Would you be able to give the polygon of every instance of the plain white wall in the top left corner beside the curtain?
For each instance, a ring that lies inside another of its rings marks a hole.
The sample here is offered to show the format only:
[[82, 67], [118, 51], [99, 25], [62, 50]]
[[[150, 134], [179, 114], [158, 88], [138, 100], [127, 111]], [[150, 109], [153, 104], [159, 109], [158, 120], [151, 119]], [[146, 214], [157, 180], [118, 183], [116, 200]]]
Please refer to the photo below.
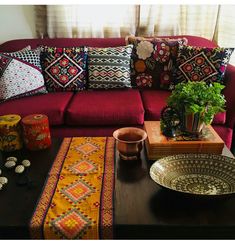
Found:
[[12, 39], [35, 37], [33, 5], [0, 5], [0, 44]]

